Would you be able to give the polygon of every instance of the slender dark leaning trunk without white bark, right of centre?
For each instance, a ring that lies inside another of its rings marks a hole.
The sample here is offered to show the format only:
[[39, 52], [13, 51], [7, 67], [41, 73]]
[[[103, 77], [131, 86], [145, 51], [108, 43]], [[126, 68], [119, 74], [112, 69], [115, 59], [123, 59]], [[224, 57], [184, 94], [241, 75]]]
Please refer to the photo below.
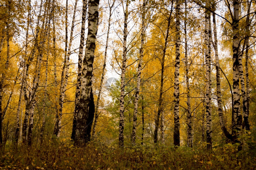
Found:
[[171, 12], [170, 12], [170, 15], [168, 17], [168, 25], [167, 25], [167, 30], [166, 30], [166, 36], [163, 35], [163, 36], [165, 36], [165, 45], [164, 45], [164, 48], [163, 48], [163, 57], [162, 57], [162, 60], [161, 60], [161, 84], [160, 84], [160, 91], [159, 91], [157, 119], [155, 120], [154, 143], [157, 143], [157, 132], [158, 132], [158, 126], [159, 126], [159, 119], [160, 119], [160, 113], [162, 111], [164, 62], [165, 62], [165, 53], [166, 53], [166, 48], [167, 48], [168, 36], [169, 36], [169, 31], [170, 31], [172, 7], [173, 7], [173, 3], [171, 4]]

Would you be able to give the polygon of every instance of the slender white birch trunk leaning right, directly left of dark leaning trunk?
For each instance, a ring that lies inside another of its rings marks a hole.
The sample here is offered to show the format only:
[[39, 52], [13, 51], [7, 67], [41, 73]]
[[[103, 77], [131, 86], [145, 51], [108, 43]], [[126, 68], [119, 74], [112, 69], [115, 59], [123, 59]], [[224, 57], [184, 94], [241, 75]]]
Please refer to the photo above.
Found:
[[146, 0], [143, 0], [143, 7], [142, 7], [142, 27], [141, 27], [141, 49], [140, 49], [140, 60], [138, 64], [138, 72], [137, 72], [137, 86], [135, 92], [135, 99], [134, 99], [134, 111], [133, 111], [133, 125], [132, 125], [132, 144], [135, 144], [136, 138], [136, 125], [137, 125], [137, 112], [138, 112], [138, 101], [139, 101], [139, 92], [141, 86], [141, 65], [142, 65], [142, 58], [143, 58], [143, 51], [144, 51], [144, 39], [145, 39], [145, 12], [146, 12]]

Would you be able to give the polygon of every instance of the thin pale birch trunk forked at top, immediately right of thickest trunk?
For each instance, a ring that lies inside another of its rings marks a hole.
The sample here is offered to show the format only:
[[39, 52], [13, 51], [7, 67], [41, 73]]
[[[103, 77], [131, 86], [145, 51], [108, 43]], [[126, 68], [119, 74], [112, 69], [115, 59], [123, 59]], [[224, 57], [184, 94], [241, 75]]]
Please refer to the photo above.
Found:
[[106, 61], [107, 61], [107, 47], [108, 47], [108, 36], [109, 36], [109, 30], [110, 30], [110, 22], [111, 22], [111, 15], [112, 15], [112, 8], [115, 4], [115, 0], [113, 1], [113, 4], [110, 6], [109, 4], [109, 18], [108, 18], [108, 28], [107, 28], [107, 39], [106, 39], [106, 46], [105, 46], [105, 53], [104, 53], [104, 63], [103, 63], [103, 68], [102, 68], [102, 76], [101, 76], [101, 81], [100, 81], [100, 86], [99, 86], [99, 94], [97, 98], [97, 103], [96, 103], [96, 108], [95, 108], [95, 118], [94, 118], [94, 124], [93, 124], [93, 132], [92, 132], [92, 140], [95, 138], [95, 131], [96, 131], [96, 126], [97, 126], [97, 121], [98, 121], [98, 110], [99, 110], [99, 101], [102, 93], [102, 87], [103, 87], [103, 81], [104, 81], [104, 76], [105, 76], [105, 68], [106, 68]]

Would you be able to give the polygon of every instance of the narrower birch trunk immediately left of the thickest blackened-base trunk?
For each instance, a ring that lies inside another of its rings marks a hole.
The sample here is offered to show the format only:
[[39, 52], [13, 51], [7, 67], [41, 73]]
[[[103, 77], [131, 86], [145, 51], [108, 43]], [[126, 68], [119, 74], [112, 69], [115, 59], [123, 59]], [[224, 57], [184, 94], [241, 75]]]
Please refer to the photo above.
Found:
[[76, 129], [77, 129], [77, 115], [79, 109], [79, 99], [80, 99], [80, 89], [81, 89], [81, 77], [82, 77], [82, 58], [83, 58], [83, 49], [85, 41], [85, 21], [86, 21], [86, 9], [87, 9], [87, 0], [83, 0], [83, 9], [82, 9], [82, 26], [81, 26], [81, 37], [80, 37], [80, 46], [79, 46], [79, 55], [78, 55], [78, 70], [77, 70], [77, 85], [76, 85], [76, 94], [75, 94], [75, 108], [74, 108], [74, 118], [72, 125], [71, 139], [75, 140]]

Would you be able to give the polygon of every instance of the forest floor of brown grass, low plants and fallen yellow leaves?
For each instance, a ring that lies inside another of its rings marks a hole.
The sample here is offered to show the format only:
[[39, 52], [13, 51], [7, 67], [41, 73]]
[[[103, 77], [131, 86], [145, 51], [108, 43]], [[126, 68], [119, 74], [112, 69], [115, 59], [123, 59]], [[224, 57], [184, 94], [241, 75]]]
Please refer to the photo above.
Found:
[[191, 149], [173, 146], [118, 148], [99, 142], [74, 147], [69, 140], [48, 141], [17, 149], [6, 146], [0, 169], [256, 169], [255, 141], [251, 149], [237, 151], [238, 144], [205, 144]]

